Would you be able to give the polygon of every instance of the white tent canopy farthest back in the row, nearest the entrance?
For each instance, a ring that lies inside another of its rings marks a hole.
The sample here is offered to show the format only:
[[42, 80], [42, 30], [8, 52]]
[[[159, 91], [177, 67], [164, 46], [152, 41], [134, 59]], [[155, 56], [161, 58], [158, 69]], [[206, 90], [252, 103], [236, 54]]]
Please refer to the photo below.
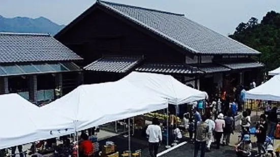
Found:
[[171, 75], [131, 72], [120, 81], [129, 81], [131, 84], [146, 91], [157, 94], [169, 100], [170, 104], [179, 105], [208, 98], [206, 92], [202, 92], [186, 86], [177, 81]]

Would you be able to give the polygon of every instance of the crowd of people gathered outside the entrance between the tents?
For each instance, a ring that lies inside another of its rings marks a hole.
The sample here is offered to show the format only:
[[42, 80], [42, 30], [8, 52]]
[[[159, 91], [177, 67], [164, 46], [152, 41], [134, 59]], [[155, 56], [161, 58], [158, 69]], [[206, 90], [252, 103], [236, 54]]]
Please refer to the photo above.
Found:
[[[251, 87], [252, 86], [252, 87]], [[250, 88], [255, 88], [254, 82]], [[201, 157], [205, 156], [206, 152], [211, 151], [212, 148], [220, 149], [221, 145], [226, 146], [230, 144], [231, 135], [235, 131], [235, 116], [238, 111], [242, 111], [245, 103], [245, 88], [240, 86], [233, 90], [236, 95], [230, 95], [227, 92], [222, 92], [220, 96], [213, 97], [211, 101], [204, 102], [204, 108], [201, 102], [193, 104], [193, 111], [183, 114], [182, 124], [174, 125], [175, 122], [170, 121], [173, 126], [172, 140], [182, 139], [183, 133], [186, 130], [189, 133], [189, 138], [195, 145], [194, 156], [198, 155], [199, 149]], [[272, 143], [267, 142], [267, 137], [273, 137], [276, 129], [277, 121], [277, 107], [267, 109], [268, 112], [261, 114], [259, 122], [252, 123], [251, 109], [246, 109], [242, 112], [242, 118], [239, 123], [241, 126], [241, 134], [239, 143], [236, 145], [237, 156], [251, 156], [252, 155], [252, 141], [251, 135], [256, 136], [258, 151], [256, 156], [276, 156], [273, 152]], [[174, 112], [175, 113], [175, 112]], [[170, 117], [174, 113], [169, 113]], [[280, 126], [280, 124], [279, 124]], [[251, 128], [256, 129], [255, 133], [251, 132]], [[161, 128], [158, 128], [158, 130]], [[151, 133], [152, 132], [152, 133]], [[152, 134], [152, 136], [150, 136]], [[154, 134], [153, 131], [147, 130], [149, 135], [149, 142], [154, 142], [153, 137], [157, 137], [157, 144], [150, 144], [150, 156], [156, 156], [159, 143], [162, 140], [160, 131]], [[213, 145], [214, 144], [214, 145]]]

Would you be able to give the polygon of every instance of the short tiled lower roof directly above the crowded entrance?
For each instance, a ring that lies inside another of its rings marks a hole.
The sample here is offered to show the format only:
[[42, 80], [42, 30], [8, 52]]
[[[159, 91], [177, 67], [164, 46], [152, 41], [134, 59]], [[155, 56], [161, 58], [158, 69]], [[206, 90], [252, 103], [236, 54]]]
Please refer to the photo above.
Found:
[[214, 73], [214, 72], [225, 72], [230, 71], [230, 68], [226, 68], [219, 64], [214, 63], [202, 63], [199, 65], [199, 70], [205, 73]]

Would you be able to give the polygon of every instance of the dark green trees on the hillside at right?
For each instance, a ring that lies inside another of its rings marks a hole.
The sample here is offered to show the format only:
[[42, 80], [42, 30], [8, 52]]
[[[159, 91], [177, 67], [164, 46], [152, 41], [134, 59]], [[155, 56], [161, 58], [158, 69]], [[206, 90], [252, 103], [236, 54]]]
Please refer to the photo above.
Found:
[[280, 66], [280, 14], [268, 12], [261, 22], [252, 17], [241, 22], [229, 37], [261, 52], [261, 62], [265, 71]]

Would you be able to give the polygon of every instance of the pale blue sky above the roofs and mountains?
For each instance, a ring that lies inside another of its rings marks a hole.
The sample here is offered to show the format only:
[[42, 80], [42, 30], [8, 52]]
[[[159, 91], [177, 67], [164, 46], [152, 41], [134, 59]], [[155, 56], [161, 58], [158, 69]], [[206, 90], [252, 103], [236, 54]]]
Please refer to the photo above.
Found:
[[[251, 17], [261, 21], [271, 10], [280, 12], [279, 0], [107, 0], [110, 2], [184, 14], [216, 32], [228, 35]], [[57, 24], [69, 24], [95, 0], [0, 0], [0, 15], [46, 17]]]

